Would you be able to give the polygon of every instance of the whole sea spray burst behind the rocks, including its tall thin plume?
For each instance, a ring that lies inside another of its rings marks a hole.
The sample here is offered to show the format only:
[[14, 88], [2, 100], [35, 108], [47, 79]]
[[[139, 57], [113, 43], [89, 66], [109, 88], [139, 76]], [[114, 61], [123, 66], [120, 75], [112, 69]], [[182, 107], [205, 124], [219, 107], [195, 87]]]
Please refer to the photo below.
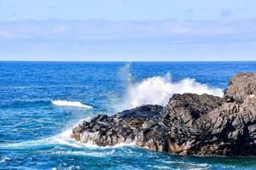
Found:
[[131, 62], [119, 69], [120, 83], [124, 94], [111, 95], [113, 111], [119, 112], [139, 105], [163, 105], [173, 94], [212, 94], [223, 97], [223, 89], [212, 88], [207, 84], [196, 82], [194, 78], [184, 78], [179, 82], [172, 82], [171, 73], [165, 76], [148, 77], [141, 82], [134, 82], [131, 74]]

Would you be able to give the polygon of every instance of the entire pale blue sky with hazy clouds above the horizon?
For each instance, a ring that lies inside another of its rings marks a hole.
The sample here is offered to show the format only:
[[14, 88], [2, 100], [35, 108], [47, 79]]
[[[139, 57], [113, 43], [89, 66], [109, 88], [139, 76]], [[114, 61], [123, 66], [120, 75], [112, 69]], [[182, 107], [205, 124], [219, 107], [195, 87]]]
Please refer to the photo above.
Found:
[[253, 0], [0, 0], [0, 60], [255, 60]]

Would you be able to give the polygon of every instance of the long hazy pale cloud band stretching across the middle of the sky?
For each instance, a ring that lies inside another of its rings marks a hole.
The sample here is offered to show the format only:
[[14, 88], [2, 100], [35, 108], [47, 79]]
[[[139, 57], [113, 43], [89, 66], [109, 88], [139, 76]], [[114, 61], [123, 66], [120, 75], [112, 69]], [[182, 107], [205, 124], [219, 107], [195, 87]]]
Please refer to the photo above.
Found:
[[[2, 40], [218, 42], [256, 39], [256, 20], [23, 20], [0, 22]], [[10, 33], [11, 32], [11, 33]]]

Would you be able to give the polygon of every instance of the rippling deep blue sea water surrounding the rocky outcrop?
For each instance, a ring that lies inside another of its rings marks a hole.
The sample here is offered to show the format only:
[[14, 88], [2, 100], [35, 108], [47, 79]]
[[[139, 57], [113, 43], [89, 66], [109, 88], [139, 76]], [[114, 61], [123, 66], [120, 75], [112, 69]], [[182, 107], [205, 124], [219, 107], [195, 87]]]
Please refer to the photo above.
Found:
[[[112, 115], [143, 98], [129, 89], [162, 92], [151, 86], [155, 81], [173, 92], [207, 87], [214, 94], [239, 71], [255, 72], [256, 62], [0, 62], [0, 169], [256, 169], [256, 157], [175, 156], [69, 138], [79, 121]], [[194, 82], [183, 81], [188, 77]]]

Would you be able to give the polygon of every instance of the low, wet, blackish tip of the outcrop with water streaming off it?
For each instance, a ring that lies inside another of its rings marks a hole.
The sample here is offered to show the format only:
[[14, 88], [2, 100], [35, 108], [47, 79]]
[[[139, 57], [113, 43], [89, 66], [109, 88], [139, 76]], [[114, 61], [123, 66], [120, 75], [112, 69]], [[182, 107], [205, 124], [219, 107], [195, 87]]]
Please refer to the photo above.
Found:
[[136, 141], [144, 129], [159, 122], [160, 105], [142, 105], [114, 116], [100, 115], [73, 128], [74, 139], [101, 146]]

